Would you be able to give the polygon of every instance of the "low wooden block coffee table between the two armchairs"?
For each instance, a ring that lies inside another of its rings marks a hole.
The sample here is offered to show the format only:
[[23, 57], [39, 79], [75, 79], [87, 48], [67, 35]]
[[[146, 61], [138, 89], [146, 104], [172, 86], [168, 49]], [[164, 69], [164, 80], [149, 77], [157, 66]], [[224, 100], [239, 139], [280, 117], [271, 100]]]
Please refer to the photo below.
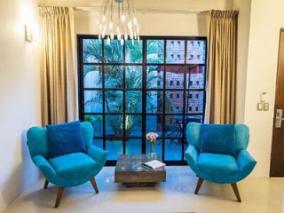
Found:
[[[156, 158], [162, 161], [161, 157]], [[155, 183], [166, 181], [166, 169], [146, 170], [141, 166], [149, 162], [147, 154], [122, 154], [119, 156], [115, 170], [114, 183], [130, 186], [154, 186]]]

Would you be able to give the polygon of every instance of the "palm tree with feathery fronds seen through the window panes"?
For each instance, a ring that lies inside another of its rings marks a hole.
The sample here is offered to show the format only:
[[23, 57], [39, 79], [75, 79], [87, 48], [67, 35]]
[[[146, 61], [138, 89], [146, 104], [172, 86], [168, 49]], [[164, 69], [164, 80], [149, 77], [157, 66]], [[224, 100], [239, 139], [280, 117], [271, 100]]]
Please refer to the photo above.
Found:
[[[147, 43], [147, 55], [150, 63], [161, 63], [163, 55], [163, 44], [159, 41], [149, 41]], [[135, 41], [125, 43], [126, 53], [125, 60], [130, 63], [142, 63], [142, 42]], [[105, 44], [105, 62], [117, 63], [122, 62], [122, 46], [119, 41], [112, 41], [110, 45]], [[154, 55], [154, 57], [153, 57]], [[102, 46], [98, 39], [87, 39], [83, 43], [83, 59], [86, 62], [102, 61]], [[105, 86], [106, 88], [123, 88], [122, 66], [105, 66]], [[142, 67], [128, 66], [125, 68], [125, 86], [128, 89], [142, 88]], [[148, 67], [146, 85], [147, 88], [154, 88], [160, 76], [156, 75], [157, 66]], [[94, 68], [85, 67], [83, 70], [84, 77], [95, 71]], [[97, 83], [102, 82], [100, 75]], [[107, 113], [122, 113], [124, 102], [122, 99], [122, 91], [106, 91], [106, 112]], [[151, 97], [148, 97], [151, 98]], [[85, 105], [95, 105], [99, 101], [101, 103], [102, 96], [95, 97], [85, 101]], [[128, 113], [139, 112], [139, 107], [142, 103], [142, 94], [138, 91], [127, 91], [125, 108]], [[91, 120], [85, 116], [85, 120]], [[94, 121], [91, 121], [94, 122]], [[115, 136], [123, 135], [123, 116], [117, 115], [109, 119]], [[128, 135], [134, 126], [133, 115], [125, 116], [125, 134]]]

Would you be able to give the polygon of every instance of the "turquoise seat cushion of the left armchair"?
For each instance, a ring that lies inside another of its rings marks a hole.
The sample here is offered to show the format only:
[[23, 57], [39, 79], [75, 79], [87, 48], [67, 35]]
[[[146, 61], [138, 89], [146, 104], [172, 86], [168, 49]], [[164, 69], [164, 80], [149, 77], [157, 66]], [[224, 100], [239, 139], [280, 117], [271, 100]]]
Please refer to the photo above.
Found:
[[95, 162], [87, 154], [73, 153], [65, 154], [49, 160], [52, 168], [59, 177], [66, 179], [80, 179], [86, 177], [97, 167]]

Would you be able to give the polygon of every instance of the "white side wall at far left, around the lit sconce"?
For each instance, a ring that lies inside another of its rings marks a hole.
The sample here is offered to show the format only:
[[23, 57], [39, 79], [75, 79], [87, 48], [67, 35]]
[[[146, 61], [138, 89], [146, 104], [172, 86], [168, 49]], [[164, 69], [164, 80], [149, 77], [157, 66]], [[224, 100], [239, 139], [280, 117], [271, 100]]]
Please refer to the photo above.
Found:
[[38, 178], [26, 144], [41, 124], [38, 43], [25, 41], [36, 20], [36, 1], [0, 1], [0, 212]]

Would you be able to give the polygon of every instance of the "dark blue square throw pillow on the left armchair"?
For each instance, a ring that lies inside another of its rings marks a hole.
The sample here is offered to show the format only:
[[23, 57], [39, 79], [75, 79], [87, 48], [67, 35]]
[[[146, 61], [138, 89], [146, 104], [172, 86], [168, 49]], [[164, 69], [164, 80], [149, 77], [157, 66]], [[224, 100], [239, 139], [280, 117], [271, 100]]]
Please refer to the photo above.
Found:
[[46, 129], [51, 158], [63, 154], [86, 152], [80, 122], [47, 125]]

